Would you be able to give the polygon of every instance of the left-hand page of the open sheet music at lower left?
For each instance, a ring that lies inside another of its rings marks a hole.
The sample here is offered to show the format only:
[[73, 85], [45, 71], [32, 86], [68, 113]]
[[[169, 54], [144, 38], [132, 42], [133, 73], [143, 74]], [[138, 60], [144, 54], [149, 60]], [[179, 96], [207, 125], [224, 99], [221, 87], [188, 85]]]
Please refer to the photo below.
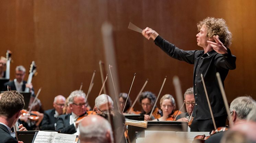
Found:
[[58, 132], [38, 131], [34, 143], [52, 143]]

